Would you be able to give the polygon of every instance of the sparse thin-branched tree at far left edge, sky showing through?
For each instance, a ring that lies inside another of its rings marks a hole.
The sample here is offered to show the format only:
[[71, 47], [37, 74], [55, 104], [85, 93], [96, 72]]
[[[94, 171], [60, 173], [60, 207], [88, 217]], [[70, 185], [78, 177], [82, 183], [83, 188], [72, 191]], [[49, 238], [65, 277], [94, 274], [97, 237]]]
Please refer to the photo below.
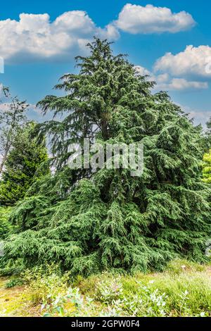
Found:
[[2, 89], [4, 110], [0, 110], [0, 175], [13, 141], [17, 137], [21, 125], [26, 123], [27, 103], [19, 101], [18, 97], [11, 96], [8, 87]]

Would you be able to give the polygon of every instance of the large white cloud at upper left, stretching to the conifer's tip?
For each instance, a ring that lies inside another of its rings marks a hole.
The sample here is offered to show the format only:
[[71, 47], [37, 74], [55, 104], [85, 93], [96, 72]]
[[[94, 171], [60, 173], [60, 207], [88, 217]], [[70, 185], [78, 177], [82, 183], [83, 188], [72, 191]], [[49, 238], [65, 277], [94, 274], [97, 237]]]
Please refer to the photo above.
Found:
[[117, 39], [113, 25], [96, 27], [84, 11], [69, 11], [52, 23], [48, 14], [20, 14], [20, 20], [0, 20], [0, 55], [7, 62], [69, 59], [84, 51], [94, 36]]

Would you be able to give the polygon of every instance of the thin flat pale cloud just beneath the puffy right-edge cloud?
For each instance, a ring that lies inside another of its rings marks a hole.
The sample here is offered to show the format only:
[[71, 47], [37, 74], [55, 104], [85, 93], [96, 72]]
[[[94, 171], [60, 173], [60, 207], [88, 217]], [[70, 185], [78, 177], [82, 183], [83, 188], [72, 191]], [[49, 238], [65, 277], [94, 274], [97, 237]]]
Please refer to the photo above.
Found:
[[136, 65], [136, 71], [141, 76], [148, 76], [148, 80], [156, 82], [155, 90], [166, 90], [166, 91], [186, 91], [194, 89], [208, 89], [209, 85], [207, 82], [198, 82], [186, 80], [185, 78], [171, 77], [168, 73], [162, 73], [156, 75], [150, 70], [143, 68], [141, 65]]

